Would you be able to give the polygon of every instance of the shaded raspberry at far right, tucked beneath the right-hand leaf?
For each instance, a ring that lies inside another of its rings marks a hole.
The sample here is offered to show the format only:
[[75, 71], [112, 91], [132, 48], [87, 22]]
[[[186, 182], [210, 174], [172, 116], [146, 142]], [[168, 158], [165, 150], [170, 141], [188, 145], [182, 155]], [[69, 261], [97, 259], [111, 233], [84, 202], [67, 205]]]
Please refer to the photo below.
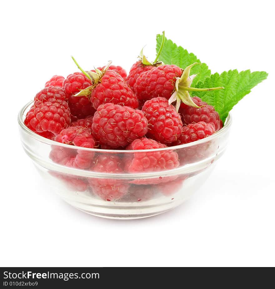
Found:
[[197, 106], [201, 107], [195, 108], [182, 103], [179, 113], [182, 115], [182, 121], [184, 124], [204, 121], [207, 124], [212, 124], [216, 131], [222, 128], [220, 116], [212, 105], [207, 104], [197, 96], [192, 97], [192, 100], [197, 104]]

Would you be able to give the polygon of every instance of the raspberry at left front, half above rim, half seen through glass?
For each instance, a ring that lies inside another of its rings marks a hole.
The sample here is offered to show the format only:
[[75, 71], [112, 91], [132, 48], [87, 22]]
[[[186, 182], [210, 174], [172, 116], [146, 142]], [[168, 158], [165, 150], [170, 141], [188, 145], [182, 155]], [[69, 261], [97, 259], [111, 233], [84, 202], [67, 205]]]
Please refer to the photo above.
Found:
[[[92, 130], [81, 126], [70, 126], [68, 129], [63, 129], [60, 134], [55, 137], [55, 141], [83, 148], [93, 148], [95, 145]], [[80, 169], [87, 169], [91, 166], [94, 157], [93, 151], [63, 150], [62, 147], [55, 147], [56, 149], [52, 150], [50, 156], [52, 160], [58, 160], [59, 162], [63, 162], [66, 166]]]

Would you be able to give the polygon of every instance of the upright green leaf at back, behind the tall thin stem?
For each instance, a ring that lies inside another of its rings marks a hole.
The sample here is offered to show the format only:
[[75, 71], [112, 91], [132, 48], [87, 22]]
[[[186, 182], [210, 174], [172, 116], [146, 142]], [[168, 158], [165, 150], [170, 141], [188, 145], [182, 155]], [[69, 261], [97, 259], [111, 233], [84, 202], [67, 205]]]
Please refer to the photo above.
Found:
[[[157, 47], [156, 51], [158, 53], [158, 50], [160, 48], [162, 42], [162, 35], [157, 35]], [[187, 66], [189, 66], [192, 63], [201, 61], [197, 58], [196, 55], [193, 53], [188, 53], [188, 51], [181, 46], [177, 46], [175, 43], [173, 43], [172, 40], [168, 40], [165, 37], [164, 46], [163, 49], [159, 55], [158, 58], [159, 61], [162, 61], [165, 64], [175, 64], [179, 66], [180, 68], [185, 69]], [[195, 87], [198, 81], [204, 81], [207, 77], [210, 76], [211, 71], [208, 69], [207, 64], [202, 63], [202, 65], [196, 65], [191, 69], [190, 74], [198, 74], [194, 80], [192, 81], [192, 87]]]

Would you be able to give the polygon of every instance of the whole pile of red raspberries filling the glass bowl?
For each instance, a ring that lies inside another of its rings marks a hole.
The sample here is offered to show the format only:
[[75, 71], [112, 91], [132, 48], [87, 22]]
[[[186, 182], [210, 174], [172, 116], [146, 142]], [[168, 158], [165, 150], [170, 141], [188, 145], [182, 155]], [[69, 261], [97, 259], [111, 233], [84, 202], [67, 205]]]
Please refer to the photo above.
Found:
[[[96, 82], [83, 72], [69, 74], [67, 78], [54, 75], [36, 94], [26, 115], [25, 125], [42, 137], [72, 146], [98, 149], [97, 153], [96, 150], [70, 150], [52, 145], [50, 158], [58, 164], [114, 174], [171, 170], [192, 162], [192, 157], [203, 153], [203, 147], [192, 152], [186, 150], [182, 155], [176, 150], [158, 150], [125, 154], [124, 158], [104, 154], [100, 149], [173, 147], [203, 139], [222, 128], [215, 109], [198, 97], [192, 100], [199, 108], [182, 103], [177, 112], [175, 106], [168, 103], [175, 91], [176, 79], [183, 73], [183, 69], [176, 65], [145, 65], [137, 61], [129, 74], [115, 65], [92, 71], [96, 73], [98, 70], [103, 73], [99, 74]], [[87, 88], [91, 88], [90, 93], [75, 96]], [[172, 184], [177, 178], [170, 176], [125, 182], [55, 175], [76, 190], [86, 190], [89, 186], [96, 195], [108, 201], [123, 200], [129, 194], [136, 201], [148, 199], [154, 191], [152, 185]]]

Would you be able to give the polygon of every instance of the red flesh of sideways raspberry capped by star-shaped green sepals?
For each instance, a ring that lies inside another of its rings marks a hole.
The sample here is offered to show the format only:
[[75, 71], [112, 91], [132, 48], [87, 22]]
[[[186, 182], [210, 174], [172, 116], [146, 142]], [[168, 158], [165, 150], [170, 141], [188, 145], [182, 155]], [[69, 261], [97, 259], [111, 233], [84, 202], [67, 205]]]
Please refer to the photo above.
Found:
[[183, 70], [176, 65], [160, 65], [139, 75], [134, 84], [138, 99], [165, 97], [169, 99], [175, 90], [176, 78]]

